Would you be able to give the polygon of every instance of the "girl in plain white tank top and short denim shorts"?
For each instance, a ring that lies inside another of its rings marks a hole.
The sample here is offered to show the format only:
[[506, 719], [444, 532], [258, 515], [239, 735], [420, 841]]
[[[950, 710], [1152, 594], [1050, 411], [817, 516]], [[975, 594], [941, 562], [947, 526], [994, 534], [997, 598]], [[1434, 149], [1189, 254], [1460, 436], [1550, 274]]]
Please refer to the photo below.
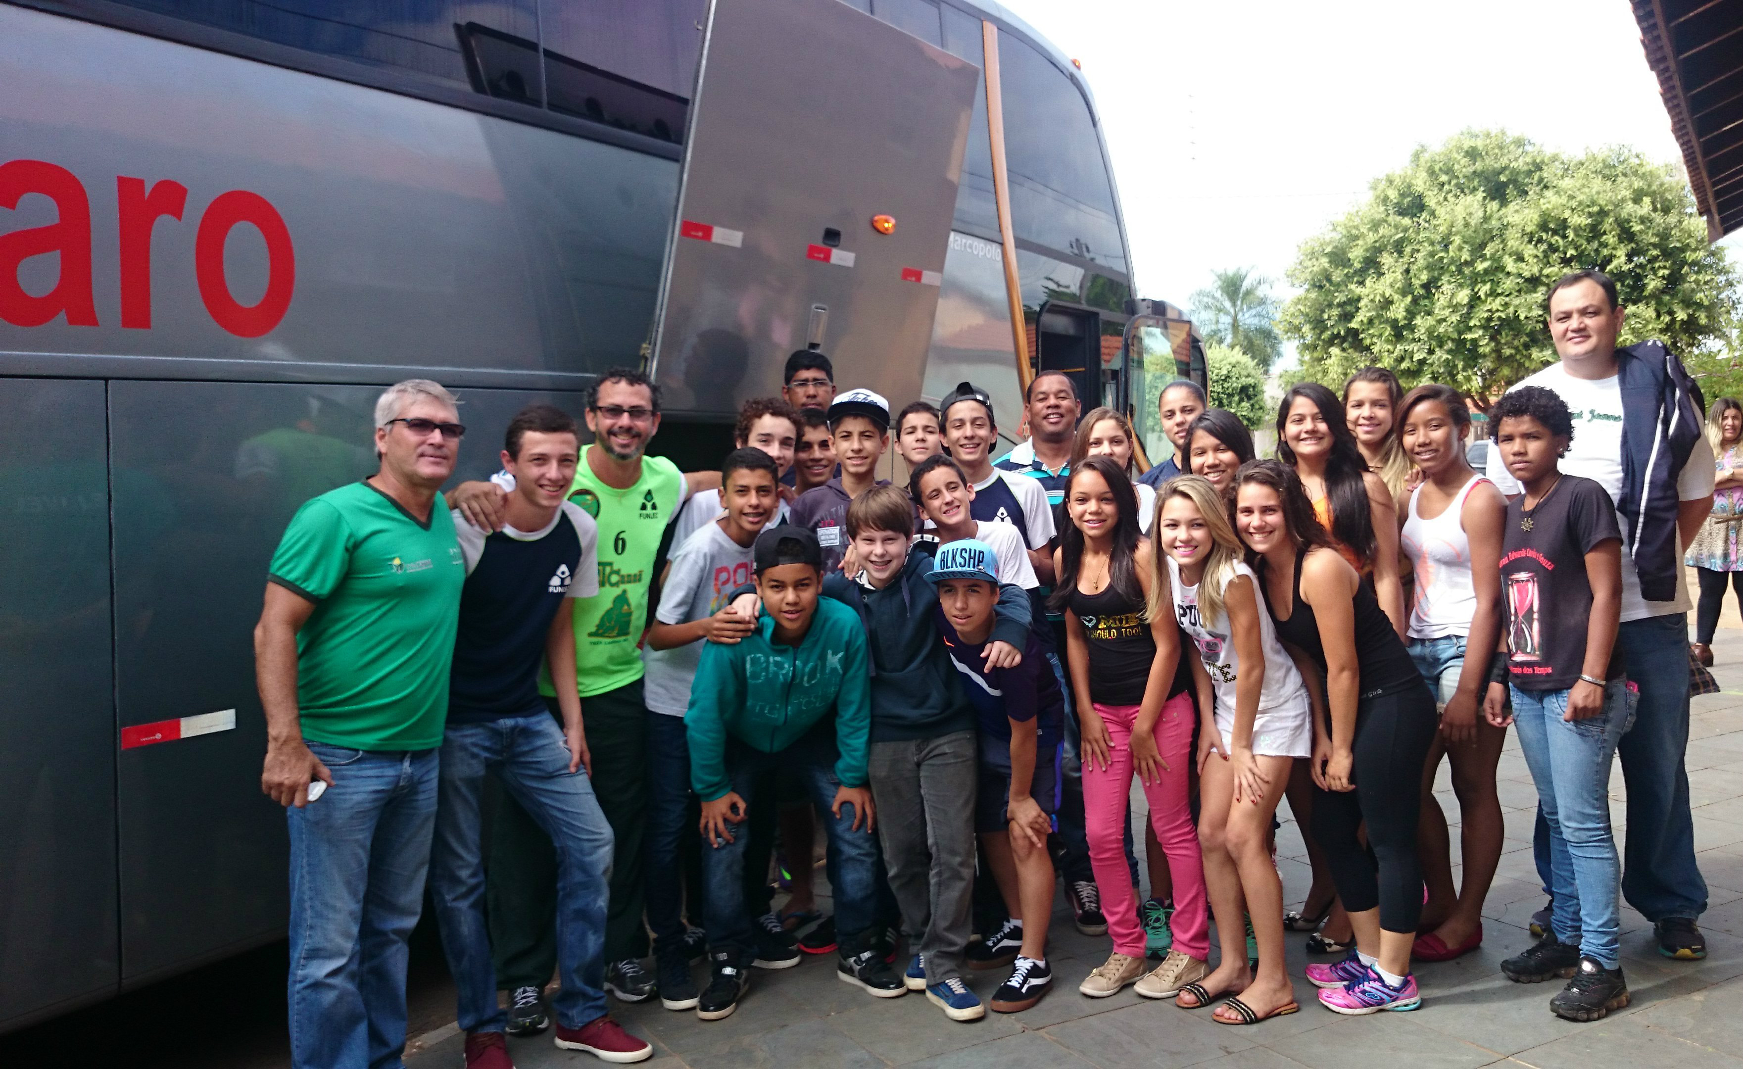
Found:
[[[1405, 647], [1441, 703], [1440, 732], [1422, 769], [1417, 841], [1428, 902], [1410, 956], [1450, 961], [1483, 942], [1483, 898], [1501, 865], [1495, 766], [1506, 729], [1476, 715], [1501, 635], [1501, 535], [1508, 500], [1471, 471], [1464, 441], [1471, 415], [1459, 391], [1419, 385], [1398, 405], [1398, 441], [1422, 471], [1405, 504], [1400, 546], [1415, 572]], [[1434, 800], [1441, 755], [1459, 795], [1462, 886], [1454, 889], [1447, 816]]]

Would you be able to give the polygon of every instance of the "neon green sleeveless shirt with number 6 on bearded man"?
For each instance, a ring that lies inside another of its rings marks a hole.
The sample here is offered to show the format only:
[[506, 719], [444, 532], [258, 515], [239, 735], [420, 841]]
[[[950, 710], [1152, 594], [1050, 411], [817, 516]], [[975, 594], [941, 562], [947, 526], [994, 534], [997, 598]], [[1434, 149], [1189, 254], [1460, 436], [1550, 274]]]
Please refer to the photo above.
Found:
[[[627, 490], [607, 487], [580, 450], [568, 499], [600, 525], [600, 593], [575, 598], [575, 678], [591, 698], [641, 678], [641, 631], [648, 616], [654, 556], [666, 525], [683, 504], [683, 473], [664, 457], [641, 457], [641, 478]], [[551, 684], [540, 687], [553, 694]]]

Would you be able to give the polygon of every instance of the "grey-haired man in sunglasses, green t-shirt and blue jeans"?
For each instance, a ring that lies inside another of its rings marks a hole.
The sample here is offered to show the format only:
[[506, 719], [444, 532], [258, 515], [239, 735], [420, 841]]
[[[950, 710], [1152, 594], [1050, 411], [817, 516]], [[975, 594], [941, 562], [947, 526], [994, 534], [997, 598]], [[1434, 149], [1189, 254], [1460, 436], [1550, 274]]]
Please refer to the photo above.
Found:
[[380, 469], [291, 518], [254, 628], [260, 786], [291, 834], [291, 1062], [378, 1066], [406, 1043], [465, 562], [436, 490], [460, 434], [425, 378], [375, 405]]

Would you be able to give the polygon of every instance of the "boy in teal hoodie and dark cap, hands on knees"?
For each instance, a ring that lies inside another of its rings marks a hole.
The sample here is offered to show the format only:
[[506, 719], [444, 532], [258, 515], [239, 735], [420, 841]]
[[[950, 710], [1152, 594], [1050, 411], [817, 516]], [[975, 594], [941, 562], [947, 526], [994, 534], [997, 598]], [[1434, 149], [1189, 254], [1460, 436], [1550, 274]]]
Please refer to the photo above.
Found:
[[[878, 998], [906, 992], [870, 949], [878, 844], [866, 786], [872, 701], [865, 630], [852, 609], [824, 600], [823, 551], [800, 527], [765, 530], [751, 549], [762, 616], [741, 642], [709, 642], [683, 717], [690, 785], [702, 799], [702, 882], [709, 936], [702, 1020], [729, 1017], [749, 985], [753, 921], [744, 902], [744, 844], [734, 825], [762, 773], [784, 769], [810, 792], [828, 832], [828, 875], [840, 940], [838, 978]], [[774, 804], [769, 799], [765, 804]]]

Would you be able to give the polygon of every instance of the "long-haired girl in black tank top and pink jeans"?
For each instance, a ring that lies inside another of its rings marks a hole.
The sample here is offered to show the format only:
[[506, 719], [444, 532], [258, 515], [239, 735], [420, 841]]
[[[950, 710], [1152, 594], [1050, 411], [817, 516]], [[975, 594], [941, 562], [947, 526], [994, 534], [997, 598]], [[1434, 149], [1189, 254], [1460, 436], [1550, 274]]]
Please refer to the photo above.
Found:
[[[1190, 692], [1170, 694], [1180, 628], [1171, 614], [1147, 609], [1150, 542], [1138, 534], [1138, 499], [1126, 473], [1107, 457], [1086, 457], [1072, 466], [1065, 507], [1072, 523], [1053, 558], [1053, 600], [1065, 610], [1077, 698], [1089, 865], [1114, 936], [1114, 954], [1077, 991], [1107, 998], [1136, 980], [1140, 994], [1168, 998], [1206, 973], [1210, 954], [1204, 868], [1187, 809], [1196, 715]], [[1124, 849], [1133, 773], [1143, 783], [1150, 827], [1175, 884], [1173, 949], [1149, 977]]]

